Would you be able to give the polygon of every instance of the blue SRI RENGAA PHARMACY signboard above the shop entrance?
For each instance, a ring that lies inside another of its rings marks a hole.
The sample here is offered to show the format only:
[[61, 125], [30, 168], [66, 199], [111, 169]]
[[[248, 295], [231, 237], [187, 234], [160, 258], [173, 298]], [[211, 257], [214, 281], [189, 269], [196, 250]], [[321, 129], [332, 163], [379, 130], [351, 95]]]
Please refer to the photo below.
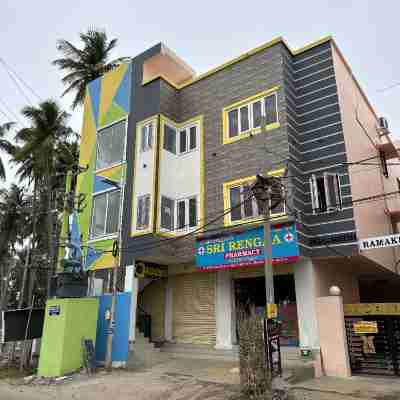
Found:
[[[294, 225], [271, 227], [271, 241], [273, 264], [295, 262], [299, 258]], [[264, 262], [262, 226], [196, 243], [196, 265], [202, 271], [263, 265]]]

